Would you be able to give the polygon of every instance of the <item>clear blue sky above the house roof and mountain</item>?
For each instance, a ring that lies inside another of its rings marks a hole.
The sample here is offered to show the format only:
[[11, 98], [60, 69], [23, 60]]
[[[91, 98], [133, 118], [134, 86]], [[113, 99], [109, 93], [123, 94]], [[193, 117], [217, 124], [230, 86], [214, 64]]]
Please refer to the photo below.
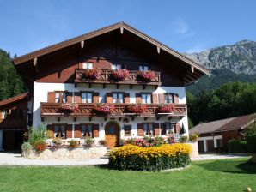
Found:
[[0, 0], [0, 48], [26, 54], [125, 21], [176, 51], [256, 41], [254, 0]]

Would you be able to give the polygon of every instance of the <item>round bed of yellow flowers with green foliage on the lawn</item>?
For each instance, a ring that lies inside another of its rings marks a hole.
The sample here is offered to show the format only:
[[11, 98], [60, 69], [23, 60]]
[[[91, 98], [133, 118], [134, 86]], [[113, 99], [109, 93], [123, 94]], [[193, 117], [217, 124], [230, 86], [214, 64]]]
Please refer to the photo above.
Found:
[[190, 164], [192, 148], [187, 144], [164, 144], [161, 147], [125, 145], [113, 149], [109, 166], [118, 170], [161, 171]]

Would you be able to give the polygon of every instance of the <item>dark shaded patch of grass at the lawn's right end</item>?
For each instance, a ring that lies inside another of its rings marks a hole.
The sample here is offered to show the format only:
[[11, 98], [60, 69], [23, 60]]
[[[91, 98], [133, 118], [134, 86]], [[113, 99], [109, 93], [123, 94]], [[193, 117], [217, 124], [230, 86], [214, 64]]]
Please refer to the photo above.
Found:
[[245, 160], [216, 160], [208, 163], [200, 162], [197, 165], [208, 171], [256, 174], [256, 164]]

